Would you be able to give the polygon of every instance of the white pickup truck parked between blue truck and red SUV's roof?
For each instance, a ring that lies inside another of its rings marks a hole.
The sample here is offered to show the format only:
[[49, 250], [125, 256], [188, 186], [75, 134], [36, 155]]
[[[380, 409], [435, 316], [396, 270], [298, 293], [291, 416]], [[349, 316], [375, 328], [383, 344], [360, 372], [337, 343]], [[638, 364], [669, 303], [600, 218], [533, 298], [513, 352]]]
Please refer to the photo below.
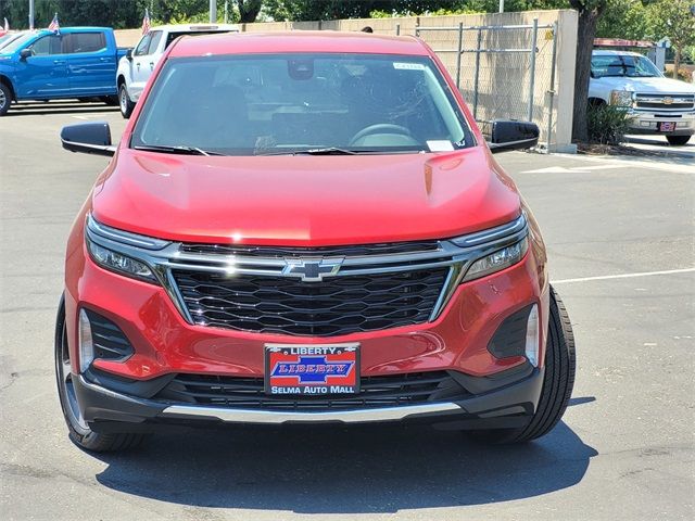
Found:
[[116, 82], [118, 85], [118, 104], [123, 117], [130, 117], [154, 66], [176, 38], [184, 35], [208, 35], [212, 33], [239, 33], [239, 27], [232, 24], [162, 25], [152, 27], [147, 35], [143, 35], [135, 49], [128, 50], [118, 62]]

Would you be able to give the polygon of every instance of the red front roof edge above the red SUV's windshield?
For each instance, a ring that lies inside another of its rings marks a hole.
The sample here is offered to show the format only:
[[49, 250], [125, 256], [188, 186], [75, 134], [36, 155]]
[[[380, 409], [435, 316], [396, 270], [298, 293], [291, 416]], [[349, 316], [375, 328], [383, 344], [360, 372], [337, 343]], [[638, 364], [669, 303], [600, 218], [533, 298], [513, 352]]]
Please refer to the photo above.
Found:
[[241, 33], [184, 37], [172, 49], [172, 58], [208, 54], [254, 54], [289, 52], [351, 52], [365, 54], [428, 55], [413, 37], [382, 36], [337, 30], [291, 33]]

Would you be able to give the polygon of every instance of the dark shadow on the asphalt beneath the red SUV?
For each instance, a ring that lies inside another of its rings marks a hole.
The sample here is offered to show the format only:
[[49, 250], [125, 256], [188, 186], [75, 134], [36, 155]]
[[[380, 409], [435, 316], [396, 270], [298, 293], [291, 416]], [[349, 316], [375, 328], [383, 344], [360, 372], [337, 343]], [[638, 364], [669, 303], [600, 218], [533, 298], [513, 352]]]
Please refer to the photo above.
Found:
[[131, 453], [98, 455], [109, 467], [97, 480], [193, 507], [388, 513], [548, 494], [579, 483], [596, 454], [564, 422], [516, 446], [427, 425], [245, 427], [169, 432]]

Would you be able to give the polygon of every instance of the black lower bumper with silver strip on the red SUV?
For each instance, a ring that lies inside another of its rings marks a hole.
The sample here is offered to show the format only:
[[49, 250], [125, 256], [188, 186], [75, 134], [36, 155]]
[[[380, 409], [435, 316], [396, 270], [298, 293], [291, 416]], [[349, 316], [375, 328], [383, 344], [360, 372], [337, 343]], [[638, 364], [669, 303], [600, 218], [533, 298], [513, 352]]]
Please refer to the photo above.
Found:
[[[355, 408], [349, 410], [257, 410], [217, 406], [197, 406], [149, 399], [108, 389], [86, 376], [74, 378], [77, 399], [85, 420], [98, 432], [153, 430], [169, 423], [371, 423], [424, 421], [441, 428], [500, 429], [527, 424], [536, 409], [543, 369], [517, 368], [495, 382], [463, 376], [470, 387], [497, 385], [480, 394], [397, 407]], [[105, 381], [110, 380], [106, 377]]]

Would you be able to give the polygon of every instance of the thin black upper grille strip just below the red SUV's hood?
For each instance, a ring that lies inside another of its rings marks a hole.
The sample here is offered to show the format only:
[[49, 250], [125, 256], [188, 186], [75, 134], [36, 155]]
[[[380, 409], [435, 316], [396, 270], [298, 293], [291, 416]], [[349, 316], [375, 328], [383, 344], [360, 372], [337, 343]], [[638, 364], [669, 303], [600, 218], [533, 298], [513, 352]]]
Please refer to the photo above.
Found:
[[362, 257], [367, 255], [397, 255], [401, 253], [433, 252], [438, 241], [391, 242], [379, 244], [353, 244], [346, 246], [282, 247], [244, 246], [236, 244], [181, 244], [185, 253], [241, 255], [244, 257]]

